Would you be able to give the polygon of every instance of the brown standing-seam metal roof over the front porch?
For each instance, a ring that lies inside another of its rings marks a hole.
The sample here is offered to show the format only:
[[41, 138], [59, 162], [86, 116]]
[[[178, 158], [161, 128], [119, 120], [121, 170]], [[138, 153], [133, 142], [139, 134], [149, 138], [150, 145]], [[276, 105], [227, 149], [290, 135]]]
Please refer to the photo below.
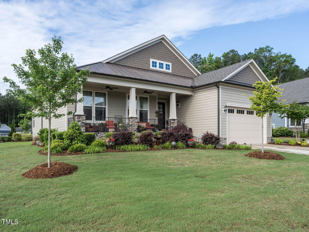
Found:
[[87, 69], [94, 73], [116, 75], [127, 78], [142, 79], [147, 81], [160, 82], [162, 84], [175, 84], [184, 87], [192, 85], [193, 78], [186, 76], [179, 76], [170, 73], [163, 73], [158, 71], [151, 71], [142, 68], [135, 68], [114, 63], [92, 63], [76, 67], [77, 70]]

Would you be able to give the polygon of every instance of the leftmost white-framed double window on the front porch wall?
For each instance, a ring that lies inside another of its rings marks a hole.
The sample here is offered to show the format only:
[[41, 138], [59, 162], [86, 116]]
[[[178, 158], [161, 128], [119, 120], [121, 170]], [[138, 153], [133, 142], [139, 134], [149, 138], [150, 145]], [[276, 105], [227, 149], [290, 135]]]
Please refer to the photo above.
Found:
[[[106, 92], [83, 90], [83, 108], [86, 117], [105, 118], [107, 112]], [[90, 120], [90, 118], [88, 118]], [[103, 119], [98, 119], [103, 120]]]

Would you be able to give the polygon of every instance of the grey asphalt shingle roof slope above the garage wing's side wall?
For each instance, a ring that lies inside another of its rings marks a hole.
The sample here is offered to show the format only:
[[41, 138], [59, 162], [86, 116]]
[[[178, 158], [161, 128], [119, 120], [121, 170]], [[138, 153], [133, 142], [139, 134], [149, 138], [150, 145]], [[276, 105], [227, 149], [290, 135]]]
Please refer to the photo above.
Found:
[[201, 75], [194, 77], [194, 83], [196, 86], [198, 86], [221, 81], [227, 75], [231, 74], [232, 72], [243, 66], [245, 63], [247, 63], [248, 61], [249, 60], [245, 60], [237, 64], [232, 64], [223, 68], [218, 68], [213, 71], [202, 73]]

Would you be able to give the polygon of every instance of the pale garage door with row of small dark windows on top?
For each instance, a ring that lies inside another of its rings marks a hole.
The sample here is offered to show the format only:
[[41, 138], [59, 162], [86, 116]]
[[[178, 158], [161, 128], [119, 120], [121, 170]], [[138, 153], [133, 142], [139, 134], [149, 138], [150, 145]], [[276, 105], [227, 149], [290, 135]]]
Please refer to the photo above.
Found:
[[227, 143], [260, 144], [262, 119], [256, 112], [242, 108], [229, 108], [227, 113]]

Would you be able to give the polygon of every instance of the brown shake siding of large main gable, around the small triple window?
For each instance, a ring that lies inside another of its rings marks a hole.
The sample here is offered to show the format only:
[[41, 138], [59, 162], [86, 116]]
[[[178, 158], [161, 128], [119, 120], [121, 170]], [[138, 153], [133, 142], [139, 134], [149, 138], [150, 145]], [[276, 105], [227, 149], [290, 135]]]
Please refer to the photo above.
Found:
[[171, 63], [171, 72], [162, 70], [155, 71], [187, 77], [196, 76], [162, 41], [150, 45], [149, 47], [139, 50], [113, 63], [154, 71], [154, 69], [150, 68], [150, 59]]

